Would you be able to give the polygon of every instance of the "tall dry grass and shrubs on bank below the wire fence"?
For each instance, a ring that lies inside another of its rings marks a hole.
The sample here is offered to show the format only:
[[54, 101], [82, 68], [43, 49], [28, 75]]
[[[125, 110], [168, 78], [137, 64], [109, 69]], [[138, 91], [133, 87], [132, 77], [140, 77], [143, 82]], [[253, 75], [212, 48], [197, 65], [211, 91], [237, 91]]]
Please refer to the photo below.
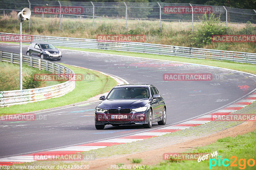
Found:
[[[208, 17], [207, 17], [208, 16]], [[135, 17], [136, 18], [136, 17]], [[62, 18], [59, 30], [59, 18], [44, 19], [40, 15], [32, 15], [30, 22], [22, 23], [22, 30], [29, 35], [48, 35], [60, 37], [96, 39], [100, 34], [143, 34], [146, 43], [166, 44], [174, 46], [200, 47], [240, 52], [256, 52], [254, 42], [211, 42], [212, 35], [255, 35], [255, 24], [219, 23], [218, 15], [203, 15], [202, 22], [194, 22], [192, 32], [191, 22], [164, 21], [161, 29], [158, 20], [129, 19], [128, 27], [124, 18]], [[206, 21], [205, 21], [206, 20]], [[94, 21], [94, 24], [92, 23]], [[207, 22], [209, 21], [209, 22]], [[30, 23], [30, 28], [29, 28]], [[5, 11], [0, 16], [0, 32], [19, 33], [17, 12]]]

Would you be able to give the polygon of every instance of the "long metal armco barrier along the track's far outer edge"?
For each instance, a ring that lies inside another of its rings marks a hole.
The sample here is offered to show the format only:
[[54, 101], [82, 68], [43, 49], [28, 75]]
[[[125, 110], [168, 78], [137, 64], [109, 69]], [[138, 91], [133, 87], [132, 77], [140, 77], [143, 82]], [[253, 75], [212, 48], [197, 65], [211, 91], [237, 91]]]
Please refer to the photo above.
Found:
[[[0, 32], [0, 40], [12, 39], [19, 34]], [[10, 36], [10, 37], [8, 37]], [[31, 36], [31, 35], [29, 35]], [[55, 46], [89, 48], [99, 50], [129, 51], [136, 53], [160, 54], [187, 58], [228, 60], [242, 63], [256, 63], [256, 53], [243, 53], [234, 51], [221, 51], [182, 46], [169, 46], [139, 42], [115, 42], [96, 39], [81, 39], [68, 37], [50, 37], [32, 35], [32, 42], [49, 42]]]

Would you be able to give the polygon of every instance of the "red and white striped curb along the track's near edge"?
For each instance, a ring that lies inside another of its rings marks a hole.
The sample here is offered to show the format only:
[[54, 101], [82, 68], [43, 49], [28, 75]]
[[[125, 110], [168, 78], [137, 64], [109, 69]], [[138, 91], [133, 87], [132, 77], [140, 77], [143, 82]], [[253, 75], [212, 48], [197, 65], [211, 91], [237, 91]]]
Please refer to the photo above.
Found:
[[252, 93], [251, 95], [245, 97], [244, 99], [239, 100], [238, 102], [235, 102], [234, 104], [231, 104], [223, 109], [217, 110], [213, 113], [209, 113], [207, 115], [197, 117], [192, 120], [188, 120], [186, 122], [182, 122], [179, 124], [163, 127], [160, 129], [155, 129], [147, 132], [141, 132], [134, 135], [128, 135], [124, 137], [119, 138], [113, 138], [113, 139], [107, 139], [107, 140], [101, 140], [97, 142], [82, 144], [82, 145], [76, 145], [76, 146], [69, 146], [64, 147], [60, 149], [53, 149], [49, 151], [44, 152], [36, 152], [36, 153], [30, 153], [25, 155], [19, 155], [19, 156], [11, 156], [7, 158], [1, 158], [0, 159], [0, 165], [12, 165], [17, 163], [24, 163], [24, 162], [33, 162], [36, 161], [33, 158], [33, 155], [66, 155], [66, 154], [75, 154], [79, 152], [84, 151], [90, 151], [93, 149], [99, 149], [99, 148], [105, 148], [112, 145], [120, 145], [125, 143], [131, 143], [139, 140], [144, 140], [156, 136], [161, 136], [164, 134], [172, 133], [175, 131], [181, 131], [183, 129], [188, 129], [191, 127], [195, 127], [201, 124], [206, 124], [208, 122], [213, 121], [212, 115], [218, 115], [218, 116], [225, 116], [231, 113], [236, 112], [237, 110], [240, 110], [248, 105], [250, 105], [252, 102], [256, 101], [256, 93]]

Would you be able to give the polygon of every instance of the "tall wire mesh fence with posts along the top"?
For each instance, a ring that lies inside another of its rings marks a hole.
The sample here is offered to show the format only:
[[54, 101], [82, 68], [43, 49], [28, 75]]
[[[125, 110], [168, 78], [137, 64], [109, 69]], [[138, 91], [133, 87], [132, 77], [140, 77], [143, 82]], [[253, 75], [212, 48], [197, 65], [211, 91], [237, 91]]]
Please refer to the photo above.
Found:
[[[162, 24], [177, 25], [178, 29], [194, 29], [201, 23], [203, 15], [213, 13], [226, 26], [243, 26], [250, 21], [256, 24], [256, 10], [230, 8], [225, 6], [198, 5], [185, 3], [131, 3], [131, 2], [69, 2], [16, 0], [1, 2], [0, 14], [21, 11], [30, 8], [31, 17], [59, 18], [59, 29], [63, 18], [86, 19], [93, 28], [100, 23], [117, 22], [129, 29], [129, 24], [140, 21], [153, 21], [162, 28]], [[29, 22], [30, 27], [30, 22]]]

